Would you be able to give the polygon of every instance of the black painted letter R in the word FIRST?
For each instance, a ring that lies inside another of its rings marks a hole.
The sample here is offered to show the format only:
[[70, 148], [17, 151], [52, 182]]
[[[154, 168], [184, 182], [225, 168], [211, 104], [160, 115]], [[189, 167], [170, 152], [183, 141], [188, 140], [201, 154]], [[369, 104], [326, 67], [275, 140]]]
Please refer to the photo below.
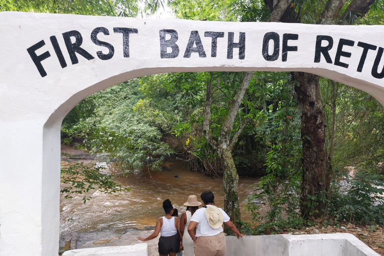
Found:
[[[66, 49], [68, 50], [68, 54], [70, 57], [70, 61], [72, 61], [72, 64], [78, 63], [78, 59], [75, 52], [77, 52], [87, 60], [94, 58], [92, 55], [89, 54], [89, 52], [87, 52], [86, 50], [80, 47], [82, 43], [82, 36], [79, 31], [72, 30], [72, 31], [62, 33], [62, 37], [64, 38], [65, 46], [66, 46]], [[75, 38], [75, 41], [73, 43], [70, 40], [70, 37]]]

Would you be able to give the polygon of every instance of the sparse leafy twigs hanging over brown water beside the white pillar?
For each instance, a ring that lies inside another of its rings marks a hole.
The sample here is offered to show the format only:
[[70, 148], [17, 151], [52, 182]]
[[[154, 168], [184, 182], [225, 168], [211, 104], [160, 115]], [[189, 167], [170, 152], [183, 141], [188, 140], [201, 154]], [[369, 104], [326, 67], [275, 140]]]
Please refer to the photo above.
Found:
[[[68, 155], [67, 155], [68, 156]], [[129, 191], [130, 188], [122, 188], [120, 184], [113, 181], [113, 175], [102, 172], [102, 166], [66, 161], [61, 166], [61, 193], [66, 193], [65, 198], [72, 198], [71, 194], [83, 194], [85, 203], [92, 197], [86, 194], [91, 189], [99, 189], [104, 193], [117, 193]]]

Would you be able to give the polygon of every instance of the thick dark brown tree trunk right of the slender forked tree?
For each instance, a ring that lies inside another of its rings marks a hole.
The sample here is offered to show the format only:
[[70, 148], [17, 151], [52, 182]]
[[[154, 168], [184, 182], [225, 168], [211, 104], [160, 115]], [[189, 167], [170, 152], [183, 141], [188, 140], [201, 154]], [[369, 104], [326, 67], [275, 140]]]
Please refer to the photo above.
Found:
[[[310, 196], [318, 196], [325, 191], [329, 178], [326, 170], [324, 112], [319, 87], [319, 76], [304, 72], [292, 72], [293, 78], [299, 82], [294, 90], [301, 117], [302, 138], [302, 182], [301, 182], [301, 215], [308, 217], [310, 211], [320, 215], [326, 204]], [[308, 196], [309, 195], [309, 196]], [[318, 203], [317, 205], [312, 202]]]

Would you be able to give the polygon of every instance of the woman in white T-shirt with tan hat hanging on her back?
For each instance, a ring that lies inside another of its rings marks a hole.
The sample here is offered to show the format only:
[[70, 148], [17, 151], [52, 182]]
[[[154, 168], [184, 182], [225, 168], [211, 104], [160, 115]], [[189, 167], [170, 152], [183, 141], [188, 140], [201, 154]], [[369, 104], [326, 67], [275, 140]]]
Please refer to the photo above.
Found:
[[[200, 198], [206, 208], [202, 207], [196, 210], [188, 225], [188, 233], [194, 242], [194, 255], [223, 256], [226, 251], [226, 244], [222, 223], [228, 226], [237, 235], [237, 238], [245, 234], [241, 234], [237, 230], [225, 211], [213, 205], [214, 195], [211, 191], [202, 192]], [[195, 227], [196, 234], [193, 233]]]

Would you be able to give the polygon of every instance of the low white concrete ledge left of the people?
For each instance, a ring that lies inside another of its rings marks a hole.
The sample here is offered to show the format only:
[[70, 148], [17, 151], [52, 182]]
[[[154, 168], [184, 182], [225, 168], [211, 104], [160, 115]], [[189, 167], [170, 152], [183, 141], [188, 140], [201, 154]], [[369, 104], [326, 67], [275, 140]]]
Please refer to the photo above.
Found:
[[147, 243], [67, 250], [62, 256], [147, 256]]

